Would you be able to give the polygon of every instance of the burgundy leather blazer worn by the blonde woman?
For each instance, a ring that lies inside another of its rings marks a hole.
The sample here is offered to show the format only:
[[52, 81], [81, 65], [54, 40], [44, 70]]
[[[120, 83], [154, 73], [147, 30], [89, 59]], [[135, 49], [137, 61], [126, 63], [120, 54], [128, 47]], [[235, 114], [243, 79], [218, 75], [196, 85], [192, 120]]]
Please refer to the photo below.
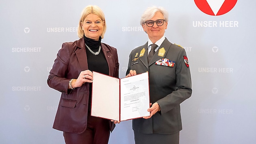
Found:
[[[117, 49], [104, 43], [101, 43], [101, 48], [108, 63], [109, 76], [118, 78]], [[63, 43], [47, 80], [49, 87], [61, 92], [61, 99], [53, 124], [54, 129], [70, 133], [83, 133], [86, 130], [89, 83], [85, 83], [74, 90], [68, 90], [69, 80], [78, 78], [80, 72], [84, 70], [88, 70], [84, 38]], [[109, 124], [112, 131], [115, 124], [111, 121]]]

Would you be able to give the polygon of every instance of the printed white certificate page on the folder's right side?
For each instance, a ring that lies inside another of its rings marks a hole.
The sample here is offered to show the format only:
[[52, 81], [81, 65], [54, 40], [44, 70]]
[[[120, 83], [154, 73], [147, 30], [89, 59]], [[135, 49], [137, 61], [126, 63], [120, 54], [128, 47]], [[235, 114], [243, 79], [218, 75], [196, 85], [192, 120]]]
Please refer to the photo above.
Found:
[[148, 72], [120, 79], [121, 121], [150, 116]]

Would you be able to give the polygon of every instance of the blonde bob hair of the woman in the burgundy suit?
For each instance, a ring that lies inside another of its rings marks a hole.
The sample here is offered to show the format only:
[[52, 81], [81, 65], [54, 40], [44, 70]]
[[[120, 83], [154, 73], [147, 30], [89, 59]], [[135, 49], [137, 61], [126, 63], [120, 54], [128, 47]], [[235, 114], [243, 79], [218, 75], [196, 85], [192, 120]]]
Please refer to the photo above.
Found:
[[86, 6], [82, 10], [81, 17], [80, 17], [80, 20], [79, 20], [79, 23], [78, 23], [78, 30], [77, 30], [78, 37], [79, 38], [83, 38], [84, 37], [85, 33], [82, 30], [81, 22], [84, 22], [85, 21], [85, 17], [87, 17], [87, 15], [89, 15], [91, 13], [95, 14], [95, 15], [98, 15], [100, 17], [100, 19], [104, 22], [103, 32], [101, 34], [101, 38], [103, 38], [104, 34], [106, 32], [106, 20], [105, 20], [105, 16], [104, 16], [103, 11], [100, 9], [99, 6], [96, 6], [96, 5]]

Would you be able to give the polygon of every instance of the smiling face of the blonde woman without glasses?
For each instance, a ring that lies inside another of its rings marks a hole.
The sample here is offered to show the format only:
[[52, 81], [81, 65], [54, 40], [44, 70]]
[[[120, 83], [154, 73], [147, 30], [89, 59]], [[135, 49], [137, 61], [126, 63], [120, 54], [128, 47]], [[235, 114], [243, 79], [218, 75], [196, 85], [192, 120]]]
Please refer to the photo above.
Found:
[[90, 13], [85, 17], [85, 20], [81, 22], [82, 30], [87, 38], [93, 40], [99, 40], [103, 32], [104, 21], [100, 19], [98, 15]]

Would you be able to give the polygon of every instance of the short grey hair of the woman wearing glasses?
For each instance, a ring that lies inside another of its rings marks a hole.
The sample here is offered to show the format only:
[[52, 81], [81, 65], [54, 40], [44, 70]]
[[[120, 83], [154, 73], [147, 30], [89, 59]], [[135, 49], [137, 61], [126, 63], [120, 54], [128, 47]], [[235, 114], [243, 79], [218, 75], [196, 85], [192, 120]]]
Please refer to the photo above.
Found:
[[152, 17], [154, 17], [154, 15], [156, 14], [156, 12], [161, 12], [163, 14], [163, 17], [165, 19], [166, 22], [168, 22], [168, 17], [169, 17], [169, 13], [168, 11], [165, 10], [165, 8], [159, 6], [152, 6], [152, 7], [148, 7], [144, 13], [141, 16], [141, 21], [140, 24], [144, 24], [145, 21], [147, 21], [148, 19], [152, 19]]

